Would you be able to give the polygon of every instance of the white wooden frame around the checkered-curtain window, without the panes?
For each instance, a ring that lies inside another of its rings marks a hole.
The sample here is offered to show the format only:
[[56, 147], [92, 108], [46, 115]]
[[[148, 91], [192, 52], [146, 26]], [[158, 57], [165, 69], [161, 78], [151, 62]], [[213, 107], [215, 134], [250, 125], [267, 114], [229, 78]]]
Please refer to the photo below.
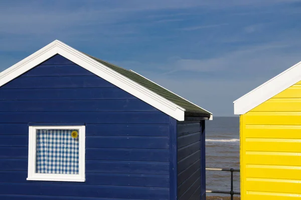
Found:
[[[79, 130], [79, 173], [47, 174], [36, 173], [37, 130], [38, 129], [78, 129]], [[29, 126], [28, 177], [27, 180], [85, 182], [85, 126]]]

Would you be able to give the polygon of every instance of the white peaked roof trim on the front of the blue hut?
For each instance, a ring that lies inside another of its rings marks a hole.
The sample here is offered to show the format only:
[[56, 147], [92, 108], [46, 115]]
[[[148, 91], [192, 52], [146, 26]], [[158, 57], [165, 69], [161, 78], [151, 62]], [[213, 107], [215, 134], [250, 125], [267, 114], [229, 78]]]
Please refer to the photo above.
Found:
[[33, 53], [17, 64], [0, 73], [0, 86], [17, 78], [52, 56], [60, 54], [79, 66], [89, 70], [97, 76], [107, 80], [117, 87], [141, 99], [143, 102], [157, 108], [178, 121], [184, 121], [185, 109], [158, 95], [157, 93], [130, 80], [118, 72], [90, 58], [84, 53], [55, 40], [39, 51]]

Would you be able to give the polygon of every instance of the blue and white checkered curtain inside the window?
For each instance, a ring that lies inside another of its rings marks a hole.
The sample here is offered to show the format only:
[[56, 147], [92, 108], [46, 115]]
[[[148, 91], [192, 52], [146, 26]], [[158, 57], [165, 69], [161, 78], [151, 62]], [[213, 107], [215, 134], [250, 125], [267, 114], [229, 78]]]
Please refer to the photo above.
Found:
[[36, 173], [78, 174], [79, 140], [72, 131], [37, 130]]

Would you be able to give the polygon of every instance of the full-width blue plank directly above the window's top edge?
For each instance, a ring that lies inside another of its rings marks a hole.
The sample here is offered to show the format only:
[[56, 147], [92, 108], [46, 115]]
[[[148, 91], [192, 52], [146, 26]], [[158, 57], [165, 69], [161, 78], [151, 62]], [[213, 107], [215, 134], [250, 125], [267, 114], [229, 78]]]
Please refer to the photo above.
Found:
[[162, 112], [0, 112], [0, 122], [168, 124], [169, 116]]

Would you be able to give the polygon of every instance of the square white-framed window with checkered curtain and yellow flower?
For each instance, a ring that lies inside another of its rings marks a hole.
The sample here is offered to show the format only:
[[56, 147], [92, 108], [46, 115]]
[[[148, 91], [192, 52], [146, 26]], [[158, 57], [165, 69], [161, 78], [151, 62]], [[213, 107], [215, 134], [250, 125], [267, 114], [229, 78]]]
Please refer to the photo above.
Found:
[[85, 181], [85, 126], [30, 126], [27, 180]]

